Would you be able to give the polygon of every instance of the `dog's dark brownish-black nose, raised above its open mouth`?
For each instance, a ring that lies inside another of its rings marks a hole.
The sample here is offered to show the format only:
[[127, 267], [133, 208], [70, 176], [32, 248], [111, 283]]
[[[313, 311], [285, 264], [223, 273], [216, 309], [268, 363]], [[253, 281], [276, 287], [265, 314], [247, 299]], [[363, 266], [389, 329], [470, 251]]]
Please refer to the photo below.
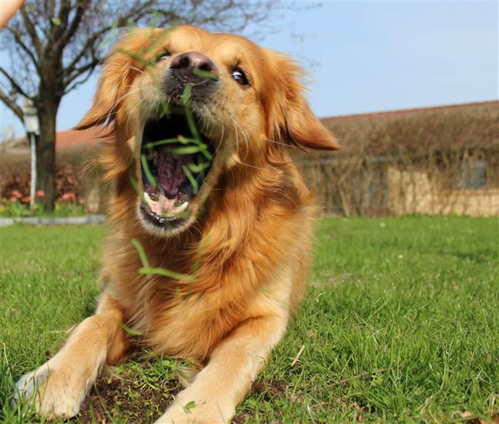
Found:
[[182, 82], [208, 82], [218, 80], [219, 76], [215, 63], [199, 51], [188, 51], [175, 56], [171, 60], [170, 71]]

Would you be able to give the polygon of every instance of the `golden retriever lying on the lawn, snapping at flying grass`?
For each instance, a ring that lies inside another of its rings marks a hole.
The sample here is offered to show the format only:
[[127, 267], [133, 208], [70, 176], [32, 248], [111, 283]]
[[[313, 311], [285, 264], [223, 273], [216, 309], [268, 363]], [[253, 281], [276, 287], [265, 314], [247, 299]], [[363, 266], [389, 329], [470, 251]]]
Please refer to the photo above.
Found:
[[117, 44], [77, 126], [113, 134], [104, 290], [95, 315], [19, 380], [38, 412], [77, 414], [101, 368], [138, 344], [202, 368], [158, 423], [234, 415], [305, 288], [317, 205], [287, 146], [338, 148], [301, 77], [283, 54], [197, 27]]

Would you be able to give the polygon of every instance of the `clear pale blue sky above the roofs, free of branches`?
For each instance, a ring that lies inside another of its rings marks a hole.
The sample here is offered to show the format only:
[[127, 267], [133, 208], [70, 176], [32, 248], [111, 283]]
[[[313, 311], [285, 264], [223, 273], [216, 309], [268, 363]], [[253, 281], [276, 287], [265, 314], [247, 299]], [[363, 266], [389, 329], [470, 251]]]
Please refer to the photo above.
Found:
[[[499, 97], [497, 1], [296, 3], [302, 10], [283, 10], [269, 21], [277, 32], [255, 40], [302, 63], [319, 117]], [[59, 130], [90, 107], [98, 74], [64, 97]], [[0, 113], [1, 134], [9, 124], [23, 134], [3, 104]]]

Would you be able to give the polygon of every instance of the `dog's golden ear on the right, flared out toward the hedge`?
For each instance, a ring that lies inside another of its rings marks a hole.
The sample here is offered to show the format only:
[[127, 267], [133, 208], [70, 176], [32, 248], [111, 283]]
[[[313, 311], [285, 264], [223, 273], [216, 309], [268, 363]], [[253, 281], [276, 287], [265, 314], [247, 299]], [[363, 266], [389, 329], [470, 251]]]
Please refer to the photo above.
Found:
[[305, 148], [338, 150], [334, 136], [322, 125], [304, 98], [304, 87], [300, 83], [302, 69], [287, 56], [269, 51], [273, 87], [269, 92], [276, 95], [270, 103], [269, 125], [274, 137], [282, 143], [302, 145]]

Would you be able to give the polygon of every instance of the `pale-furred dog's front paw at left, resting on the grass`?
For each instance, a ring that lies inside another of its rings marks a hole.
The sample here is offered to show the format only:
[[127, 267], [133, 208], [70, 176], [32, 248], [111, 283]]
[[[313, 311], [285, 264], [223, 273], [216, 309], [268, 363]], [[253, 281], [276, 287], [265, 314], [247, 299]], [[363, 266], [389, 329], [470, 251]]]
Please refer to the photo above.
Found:
[[86, 382], [74, 374], [51, 367], [50, 362], [27, 373], [16, 383], [13, 403], [31, 402], [40, 415], [70, 418], [80, 411]]

